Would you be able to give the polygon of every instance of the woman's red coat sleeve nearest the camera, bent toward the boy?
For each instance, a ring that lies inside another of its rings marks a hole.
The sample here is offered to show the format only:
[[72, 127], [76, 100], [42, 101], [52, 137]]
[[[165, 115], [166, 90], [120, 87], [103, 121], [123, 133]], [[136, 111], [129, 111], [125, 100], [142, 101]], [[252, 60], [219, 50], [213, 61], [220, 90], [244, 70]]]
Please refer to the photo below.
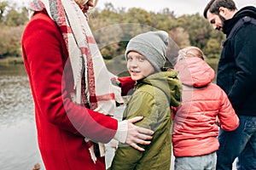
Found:
[[97, 142], [106, 143], [113, 139], [118, 127], [115, 119], [72, 102], [73, 76], [70, 64], [66, 62], [67, 48], [58, 27], [47, 14], [36, 14], [26, 26], [22, 50], [36, 112], [40, 117], [70, 133]]

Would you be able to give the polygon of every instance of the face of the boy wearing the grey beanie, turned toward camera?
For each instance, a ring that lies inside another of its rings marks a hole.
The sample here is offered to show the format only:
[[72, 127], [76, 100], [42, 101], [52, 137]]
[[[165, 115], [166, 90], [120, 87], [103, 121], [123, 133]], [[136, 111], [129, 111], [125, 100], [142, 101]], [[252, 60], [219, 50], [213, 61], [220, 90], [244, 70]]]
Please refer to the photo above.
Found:
[[148, 77], [154, 73], [154, 67], [142, 54], [131, 51], [127, 54], [127, 69], [134, 81]]

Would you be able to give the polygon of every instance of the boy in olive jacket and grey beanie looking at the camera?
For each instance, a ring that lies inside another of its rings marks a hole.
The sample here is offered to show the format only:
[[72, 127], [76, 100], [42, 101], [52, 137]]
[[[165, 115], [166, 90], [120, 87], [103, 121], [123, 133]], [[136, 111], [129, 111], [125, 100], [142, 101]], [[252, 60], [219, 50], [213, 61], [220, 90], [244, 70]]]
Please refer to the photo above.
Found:
[[171, 167], [170, 105], [180, 104], [181, 82], [177, 78], [177, 71], [161, 71], [166, 62], [168, 40], [165, 31], [148, 31], [133, 37], [127, 45], [127, 69], [136, 84], [123, 119], [143, 114], [143, 120], [136, 125], [153, 130], [154, 136], [151, 144], [140, 145], [143, 152], [127, 144], [119, 144], [109, 169], [169, 170]]

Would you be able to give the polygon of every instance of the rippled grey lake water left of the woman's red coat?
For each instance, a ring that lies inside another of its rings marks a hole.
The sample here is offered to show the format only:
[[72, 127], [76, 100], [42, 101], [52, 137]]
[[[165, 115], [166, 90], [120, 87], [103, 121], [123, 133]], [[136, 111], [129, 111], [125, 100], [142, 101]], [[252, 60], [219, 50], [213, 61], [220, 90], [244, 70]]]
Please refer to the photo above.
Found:
[[0, 65], [0, 87], [1, 169], [32, 169], [37, 162], [42, 166], [24, 66]]

